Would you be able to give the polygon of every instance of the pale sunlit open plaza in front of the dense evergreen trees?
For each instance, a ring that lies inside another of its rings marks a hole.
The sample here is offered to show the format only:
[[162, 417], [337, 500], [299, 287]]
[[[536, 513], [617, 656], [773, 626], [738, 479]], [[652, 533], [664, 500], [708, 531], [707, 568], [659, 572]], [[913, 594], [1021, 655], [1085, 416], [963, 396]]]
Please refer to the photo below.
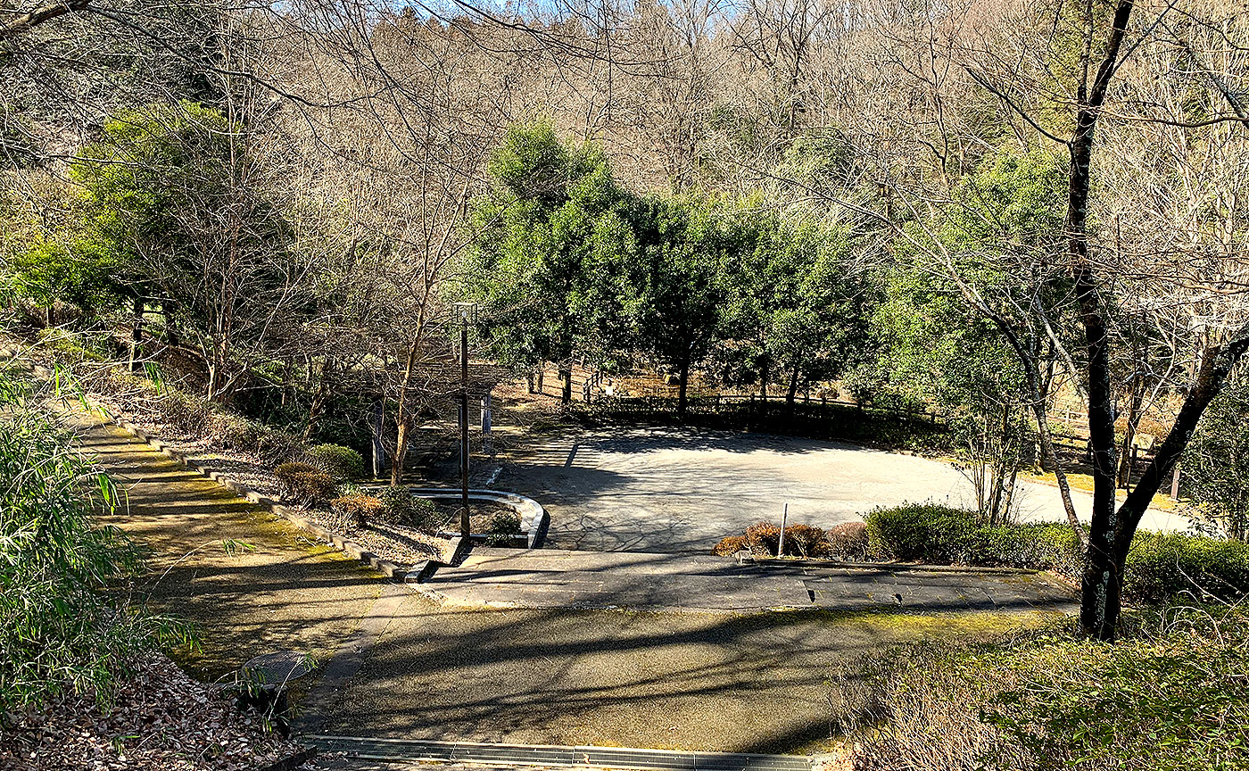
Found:
[[[618, 429], [551, 437], [508, 455], [495, 482], [551, 514], [546, 545], [593, 551], [707, 552], [726, 535], [781, 519], [829, 527], [876, 506], [932, 500], [974, 507], [950, 464], [868, 447], [727, 431]], [[1019, 482], [1020, 517], [1065, 521], [1058, 489]], [[1073, 491], [1088, 516], [1092, 495]], [[1188, 522], [1150, 510], [1142, 526]]]

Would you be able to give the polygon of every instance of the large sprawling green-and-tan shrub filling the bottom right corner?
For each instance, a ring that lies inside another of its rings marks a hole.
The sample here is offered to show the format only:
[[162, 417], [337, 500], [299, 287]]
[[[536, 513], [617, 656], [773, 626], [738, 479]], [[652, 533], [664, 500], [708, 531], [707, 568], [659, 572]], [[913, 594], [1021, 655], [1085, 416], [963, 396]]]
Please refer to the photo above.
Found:
[[833, 719], [862, 770], [1244, 769], [1249, 619], [1217, 614], [1142, 615], [1115, 645], [1052, 629], [894, 649], [833, 675]]

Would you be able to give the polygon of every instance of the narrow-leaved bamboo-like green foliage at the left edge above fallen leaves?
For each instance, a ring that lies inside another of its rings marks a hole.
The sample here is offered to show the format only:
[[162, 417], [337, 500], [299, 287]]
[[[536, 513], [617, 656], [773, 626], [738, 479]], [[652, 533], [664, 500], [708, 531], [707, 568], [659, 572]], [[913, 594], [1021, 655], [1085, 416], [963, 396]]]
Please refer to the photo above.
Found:
[[2, 376], [0, 402], [0, 711], [65, 689], [107, 702], [136, 656], [186, 631], [124, 591], [139, 551], [92, 522], [112, 482]]

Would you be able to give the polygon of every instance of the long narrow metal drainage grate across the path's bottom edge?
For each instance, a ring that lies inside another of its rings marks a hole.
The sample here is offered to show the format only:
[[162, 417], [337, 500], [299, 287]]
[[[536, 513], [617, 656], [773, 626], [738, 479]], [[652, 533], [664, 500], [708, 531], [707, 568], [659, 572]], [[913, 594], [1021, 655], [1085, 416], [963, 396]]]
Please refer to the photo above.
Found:
[[512, 766], [563, 766], [672, 771], [811, 771], [811, 761], [796, 755], [731, 752], [673, 752], [626, 747], [561, 747], [550, 745], [493, 745], [463, 741], [305, 736], [326, 752], [346, 752], [366, 760], [445, 761]]

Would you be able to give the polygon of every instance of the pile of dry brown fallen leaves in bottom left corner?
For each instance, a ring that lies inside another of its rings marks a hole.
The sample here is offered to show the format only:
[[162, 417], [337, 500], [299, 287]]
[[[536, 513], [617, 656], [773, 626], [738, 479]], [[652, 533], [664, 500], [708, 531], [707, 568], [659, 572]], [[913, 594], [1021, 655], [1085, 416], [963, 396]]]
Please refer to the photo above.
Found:
[[160, 655], [119, 684], [107, 711], [70, 694], [6, 721], [5, 771], [252, 771], [300, 750], [239, 712], [224, 686], [196, 682]]

